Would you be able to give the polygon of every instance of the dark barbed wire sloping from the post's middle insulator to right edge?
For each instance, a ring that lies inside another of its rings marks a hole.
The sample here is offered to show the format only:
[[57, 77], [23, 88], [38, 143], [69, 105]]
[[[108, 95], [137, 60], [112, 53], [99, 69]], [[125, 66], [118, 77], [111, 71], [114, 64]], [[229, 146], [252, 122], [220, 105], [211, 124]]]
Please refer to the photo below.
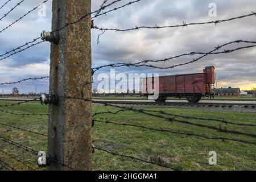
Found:
[[[102, 105], [105, 105], [105, 106], [117, 107], [117, 108], [120, 108], [120, 109], [130, 109], [130, 111], [134, 111], [135, 113], [141, 113], [141, 114], [149, 115], [149, 116], [152, 116], [152, 117], [162, 118], [165, 121], [168, 121], [168, 122], [171, 122], [171, 123], [177, 122], [177, 123], [183, 123], [185, 125], [191, 125], [191, 126], [196, 126], [196, 127], [203, 127], [203, 128], [207, 128], [207, 129], [212, 129], [212, 130], [220, 131], [222, 133], [245, 135], [247, 137], [253, 137], [253, 138], [256, 137], [255, 134], [243, 133], [241, 131], [236, 131], [236, 130], [227, 130], [226, 127], [224, 129], [222, 129], [221, 126], [218, 128], [218, 127], [215, 127], [215, 126], [208, 126], [208, 125], [203, 125], [203, 124], [200, 124], [200, 123], [189, 122], [188, 120], [184, 121], [184, 120], [180, 120], [180, 119], [176, 119], [176, 118], [164, 117], [163, 115], [156, 115], [156, 114], [152, 114], [152, 113], [147, 113], [147, 112], [151, 112], [151, 110], [133, 109], [133, 107], [118, 106], [118, 105], [113, 105], [113, 104], [102, 103], [102, 102], [99, 102], [99, 101], [92, 101], [92, 102], [96, 103], [96, 104], [102, 104]], [[162, 113], [159, 112], [159, 114], [162, 114]]]

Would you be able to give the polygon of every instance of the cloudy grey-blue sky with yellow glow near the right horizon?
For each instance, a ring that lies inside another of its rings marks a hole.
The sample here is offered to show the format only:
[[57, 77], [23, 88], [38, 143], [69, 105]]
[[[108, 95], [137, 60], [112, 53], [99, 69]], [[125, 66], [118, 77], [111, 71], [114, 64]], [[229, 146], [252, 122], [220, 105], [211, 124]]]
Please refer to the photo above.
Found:
[[[97, 10], [103, 0], [92, 0], [92, 10]], [[112, 2], [113, 0], [109, 0]], [[5, 2], [1, 0], [0, 6]], [[15, 6], [19, 0], [9, 2], [0, 10], [0, 17]], [[6, 27], [19, 16], [26, 13], [42, 0], [25, 0], [0, 21], [0, 28]], [[129, 1], [115, 3], [109, 9], [123, 5]], [[40, 17], [38, 11], [29, 14], [20, 22], [0, 33], [0, 54], [10, 51], [33, 38], [40, 36], [42, 30], [51, 30], [51, 3], [46, 3], [46, 16]], [[217, 16], [209, 16], [209, 4], [216, 3]], [[131, 28], [135, 26], [164, 26], [186, 23], [204, 22], [210, 20], [232, 18], [234, 16], [256, 12], [255, 0], [142, 0], [123, 9], [113, 11], [106, 16], [94, 19], [98, 27]], [[233, 20], [231, 22], [188, 26], [180, 28], [164, 28], [162, 30], [136, 30], [129, 32], [92, 30], [92, 62], [93, 67], [109, 63], [128, 63], [139, 60], [157, 60], [193, 51], [209, 52], [214, 47], [233, 40], [243, 39], [256, 41], [256, 16]], [[232, 49], [250, 44], [234, 44], [225, 47]], [[198, 56], [198, 55], [197, 55]], [[156, 65], [170, 66], [196, 58], [184, 56], [167, 63]], [[203, 68], [214, 65], [216, 68], [217, 84], [220, 86], [240, 87], [251, 89], [256, 87], [256, 48], [243, 49], [237, 52], [210, 55], [197, 63], [176, 67], [174, 69], [159, 70], [152, 68], [118, 68], [116, 72], [123, 73], [159, 73], [159, 75], [175, 75], [203, 72]], [[110, 72], [110, 68], [96, 73]], [[42, 43], [26, 51], [18, 53], [8, 59], [0, 61], [0, 83], [17, 81], [27, 77], [49, 75], [49, 43]], [[97, 81], [96, 81], [97, 83]], [[95, 86], [96, 84], [94, 84]], [[48, 80], [27, 81], [22, 84], [1, 86], [0, 90], [10, 93], [11, 88], [17, 86], [22, 93], [48, 92]]]

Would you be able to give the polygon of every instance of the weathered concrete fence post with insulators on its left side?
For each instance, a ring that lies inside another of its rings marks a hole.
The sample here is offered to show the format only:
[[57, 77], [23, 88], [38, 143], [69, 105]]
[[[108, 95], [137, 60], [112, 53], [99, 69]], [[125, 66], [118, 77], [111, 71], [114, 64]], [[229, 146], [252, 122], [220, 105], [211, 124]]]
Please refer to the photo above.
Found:
[[[91, 10], [91, 0], [53, 0], [52, 31], [75, 22]], [[59, 31], [59, 44], [51, 44], [49, 94], [91, 98], [90, 16]], [[48, 155], [77, 170], [91, 170], [91, 103], [59, 98], [49, 106]], [[48, 170], [68, 170], [52, 162]]]

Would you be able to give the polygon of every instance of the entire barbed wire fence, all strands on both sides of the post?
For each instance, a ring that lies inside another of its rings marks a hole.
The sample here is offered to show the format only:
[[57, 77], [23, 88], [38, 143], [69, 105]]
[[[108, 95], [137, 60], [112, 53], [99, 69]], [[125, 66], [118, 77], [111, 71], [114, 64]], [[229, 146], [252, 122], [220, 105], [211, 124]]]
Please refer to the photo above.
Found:
[[[6, 6], [10, 1], [11, 0], [6, 1], [0, 7], [0, 10], [4, 6]], [[14, 11], [17, 7], [19, 7], [20, 4], [23, 1], [24, 0], [18, 2], [16, 4], [16, 6], [12, 7], [11, 10], [9, 10], [6, 14], [4, 14], [0, 18], [0, 20], [2, 20], [3, 18], [6, 18], [6, 16], [9, 15], [12, 11]], [[30, 14], [33, 11], [35, 11], [36, 9], [38, 9], [38, 7], [40, 7], [43, 3], [46, 3], [48, 1], [49, 0], [43, 1], [38, 6], [35, 6], [33, 9], [28, 11], [26, 14], [20, 16], [14, 22], [9, 24], [9, 26], [3, 28], [0, 31], [0, 34], [3, 31], [5, 31], [8, 28], [10, 28], [11, 26], [13, 26], [15, 23], [19, 22], [19, 20], [23, 19], [28, 14]], [[129, 3], [125, 3], [122, 6], [114, 7], [113, 9], [110, 9], [108, 11], [102, 12], [106, 8], [114, 5], [117, 2], [121, 2], [121, 1], [122, 0], [117, 0], [117, 1], [113, 1], [113, 2], [111, 2], [109, 4], [107, 4], [108, 0], [104, 0], [102, 2], [101, 6], [100, 6], [100, 9], [92, 11], [90, 13], [86, 13], [83, 16], [81, 16], [81, 18], [76, 20], [75, 22], [66, 23], [65, 26], [63, 26], [61, 28], [58, 28], [58, 29], [56, 29], [53, 32], [58, 32], [58, 31], [61, 31], [61, 30], [63, 30], [64, 28], [66, 28], [68, 26], [72, 26], [73, 24], [80, 23], [83, 19], [87, 18], [88, 16], [92, 15], [92, 20], [93, 20], [93, 19], [96, 19], [97, 17], [99, 17], [101, 15], [106, 15], [106, 14], [112, 12], [112, 11], [117, 11], [119, 9], [122, 9], [122, 8], [126, 7], [126, 6], [132, 5], [133, 3], [137, 3], [137, 2], [139, 2], [141, 0], [130, 1]], [[196, 25], [203, 25], [203, 24], [216, 24], [217, 25], [218, 23], [229, 22], [229, 21], [232, 21], [232, 20], [242, 19], [242, 18], [246, 18], [246, 17], [249, 17], [249, 16], [255, 16], [255, 15], [256, 15], [256, 13], [251, 13], [251, 14], [247, 14], [247, 15], [237, 16], [237, 17], [234, 17], [234, 18], [223, 19], [223, 20], [215, 20], [215, 21], [210, 21], [210, 22], [201, 22], [201, 23], [185, 23], [185, 22], [183, 22], [183, 24], [173, 25], [173, 26], [157, 26], [157, 25], [155, 25], [154, 27], [137, 26], [135, 28], [119, 29], [119, 28], [102, 28], [102, 27], [100, 28], [100, 27], [98, 27], [96, 25], [93, 25], [92, 29], [100, 30], [100, 31], [102, 31], [104, 33], [105, 31], [121, 31], [121, 32], [134, 31], [134, 30], [140, 30], [142, 28], [160, 29], [160, 28], [188, 27], [188, 26], [196, 26]], [[99, 42], [100, 35], [103, 35], [103, 34], [99, 34], [98, 35], [98, 42]], [[5, 60], [5, 59], [7, 59], [7, 58], [9, 58], [9, 57], [11, 57], [13, 55], [16, 55], [16, 54], [20, 53], [20, 52], [26, 51], [27, 49], [29, 49], [31, 47], [34, 47], [34, 46], [37, 46], [37, 45], [39, 45], [39, 44], [41, 44], [43, 42], [45, 42], [45, 41], [44, 40], [40, 40], [40, 37], [32, 39], [32, 41], [26, 42], [26, 43], [22, 44], [22, 46], [18, 46], [18, 47], [13, 48], [13, 49], [11, 49], [9, 51], [6, 51], [5, 53], [2, 53], [2, 55], [0, 55], [0, 61]], [[238, 47], [238, 48], [235, 48], [235, 49], [225, 49], [224, 51], [219, 51], [221, 48], [224, 48], [225, 46], [228, 46], [230, 44], [236, 44], [236, 43], [237, 44], [238, 43], [248, 43], [248, 44], [252, 44], [252, 45]], [[105, 67], [150, 67], [150, 68], [158, 68], [158, 69], [171, 69], [171, 68], [179, 67], [179, 66], [182, 66], [182, 65], [187, 65], [187, 64], [195, 63], [196, 61], [199, 61], [199, 60], [203, 59], [204, 57], [206, 57], [208, 55], [218, 55], [218, 54], [224, 54], [224, 53], [232, 53], [234, 51], [239, 51], [241, 49], [249, 49], [249, 48], [253, 48], [253, 47], [256, 47], [256, 42], [255, 41], [250, 41], [250, 40], [234, 40], [233, 42], [225, 43], [225, 44], [222, 44], [221, 46], [216, 46], [212, 51], [209, 51], [209, 52], [189, 52], [189, 53], [183, 53], [181, 55], [172, 56], [172, 57], [169, 57], [169, 58], [166, 58], [166, 59], [161, 59], [161, 60], [143, 60], [143, 61], [135, 61], [134, 60], [134, 61], [129, 61], [129, 63], [114, 63], [114, 64], [108, 64], [108, 65], [101, 65], [100, 67], [92, 68], [93, 69], [92, 76], [93, 76], [93, 74], [96, 71], [98, 71], [98, 70], [100, 70], [102, 68], [105, 68]], [[218, 52], [216, 52], [216, 51], [218, 51]], [[167, 67], [158, 67], [156, 65], [153, 65], [155, 63], [161, 63], [161, 62], [166, 63], [166, 62], [171, 61], [172, 59], [175, 59], [177, 57], [192, 56], [192, 55], [202, 55], [202, 56], [200, 56], [200, 57], [198, 57], [196, 59], [193, 59], [191, 61], [187, 61], [186, 63], [183, 63], [183, 64], [171, 65], [171, 66], [167, 66]], [[147, 63], [151, 63], [151, 64], [147, 64]], [[42, 80], [42, 79], [46, 79], [46, 78], [49, 78], [49, 76], [35, 77], [35, 78], [32, 78], [32, 77], [31, 78], [25, 78], [25, 79], [22, 79], [22, 80], [19, 80], [19, 81], [14, 81], [14, 82], [3, 82], [3, 83], [0, 83], [0, 85], [20, 84], [20, 83], [22, 83], [24, 81], [37, 81], [37, 80]], [[90, 83], [88, 82], [88, 84], [91, 84], [91, 83], [92, 82], [90, 82]], [[98, 105], [105, 106], [105, 107], [114, 107], [116, 109], [119, 109], [117, 111], [104, 111], [104, 112], [94, 113], [92, 115], [92, 117], [93, 117], [93, 119], [92, 119], [92, 126], [96, 125], [96, 123], [98, 122], [98, 123], [105, 123], [105, 124], [109, 124], [109, 125], [119, 125], [119, 126], [123, 126], [123, 127], [135, 127], [135, 128], [139, 128], [139, 129], [143, 129], [143, 130], [150, 130], [150, 131], [164, 132], [164, 133], [172, 133], [172, 134], [177, 134], [177, 135], [185, 135], [187, 137], [197, 137], [197, 138], [204, 138], [204, 139], [221, 140], [222, 142], [231, 141], [231, 142], [240, 142], [240, 143], [253, 144], [253, 145], [256, 144], [255, 140], [251, 141], [251, 140], [242, 140], [242, 139], [238, 139], [238, 138], [229, 138], [229, 137], [210, 137], [210, 136], [207, 136], [207, 135], [201, 135], [201, 134], [196, 134], [196, 133], [188, 133], [188, 132], [181, 132], [181, 131], [175, 131], [175, 130], [169, 130], [169, 129], [148, 127], [146, 125], [135, 125], [135, 124], [132, 124], [132, 123], [122, 123], [122, 122], [116, 122], [116, 121], [101, 120], [101, 119], [97, 119], [96, 116], [97, 115], [104, 115], [104, 114], [119, 114], [119, 113], [126, 112], [126, 111], [132, 111], [134, 113], [144, 114], [144, 115], [147, 115], [149, 117], [158, 118], [161, 121], [163, 120], [163, 121], [167, 121], [167, 122], [170, 122], [170, 123], [177, 122], [177, 123], [182, 123], [184, 125], [191, 125], [191, 126], [195, 126], [195, 127], [199, 127], [199, 128], [214, 130], [214, 131], [216, 131], [218, 133], [225, 133], [225, 134], [232, 134], [232, 135], [243, 135], [245, 137], [255, 139], [255, 137], [256, 137], [255, 134], [245, 133], [245, 132], [237, 131], [237, 130], [229, 130], [226, 127], [228, 125], [255, 127], [255, 125], [252, 124], [252, 123], [246, 124], [246, 123], [239, 123], [239, 122], [235, 122], [235, 121], [225, 121], [224, 119], [217, 119], [217, 118], [210, 118], [210, 119], [209, 118], [199, 118], [199, 117], [192, 117], [192, 116], [189, 116], [189, 115], [178, 115], [178, 114], [173, 114], [173, 113], [167, 113], [167, 112], [164, 112], [164, 111], [155, 111], [155, 110], [146, 110], [146, 109], [134, 109], [133, 107], [125, 107], [125, 106], [120, 106], [120, 105], [117, 105], [117, 104], [111, 104], [111, 102], [109, 102], [109, 103], [106, 103], [106, 102], [102, 103], [100, 101], [94, 101], [94, 100], [90, 100], [88, 98], [83, 98], [83, 97], [82, 98], [81, 97], [71, 97], [71, 96], [65, 96], [65, 95], [59, 96], [59, 97], [62, 97], [64, 99], [66, 99], [66, 100], [82, 100], [84, 102], [92, 102], [93, 104], [98, 104]], [[23, 116], [23, 117], [25, 117], [25, 116], [26, 117], [30, 117], [30, 116], [31, 117], [33, 117], [33, 116], [40, 116], [40, 117], [48, 116], [47, 113], [42, 113], [42, 114], [40, 114], [40, 113], [39, 114], [38, 113], [21, 113], [21, 112], [17, 113], [16, 111], [10, 111], [9, 110], [10, 107], [20, 106], [20, 105], [23, 105], [23, 104], [28, 104], [30, 102], [36, 102], [36, 101], [37, 100], [34, 99], [34, 100], [21, 101], [21, 102], [17, 102], [17, 103], [14, 103], [14, 104], [0, 105], [0, 108], [1, 108], [0, 112], [6, 113], [6, 114], [11, 114], [11, 115], [20, 115], [20, 116]], [[2, 110], [2, 107], [7, 107], [7, 110]], [[177, 118], [183, 118], [183, 119], [177, 119]], [[218, 122], [220, 124], [224, 124], [225, 127], [221, 127], [221, 125], [220, 125], [220, 127], [205, 125], [205, 124], [202, 124], [200, 122], [189, 121], [189, 119], [196, 119], [197, 121], [214, 121], [214, 122]], [[33, 134], [33, 135], [40, 135], [40, 137], [44, 137], [44, 138], [48, 137], [48, 135], [46, 133], [41, 133], [41, 132], [38, 132], [38, 131], [28, 130], [26, 128], [13, 125], [13, 124], [11, 124], [9, 122], [8, 123], [0, 122], [0, 125], [1, 126], [5, 126], [7, 128], [11, 128], [11, 129], [17, 130], [17, 131], [24, 131], [25, 133], [30, 133], [30, 134]], [[23, 151], [29, 152], [30, 154], [35, 155], [35, 156], [38, 155], [38, 150], [35, 150], [35, 149], [31, 148], [31, 147], [24, 146], [23, 144], [21, 144], [19, 142], [15, 142], [14, 140], [11, 140], [11, 139], [9, 139], [7, 137], [3, 137], [2, 135], [0, 135], [0, 139], [2, 140], [2, 142], [5, 142], [5, 144], [10, 144], [11, 146], [14, 146], [14, 147], [18, 148], [19, 150], [23, 150]], [[164, 168], [168, 168], [168, 169], [172, 169], [172, 170], [179, 170], [179, 168], [175, 168], [175, 167], [172, 167], [172, 166], [159, 164], [159, 163], [156, 163], [156, 162], [152, 162], [151, 160], [137, 158], [135, 156], [118, 154], [117, 152], [106, 150], [105, 148], [102, 148], [100, 146], [93, 146], [93, 148], [98, 150], [98, 151], [106, 152], [106, 153], [114, 155], [114, 156], [120, 156], [122, 158], [127, 158], [127, 159], [131, 159], [131, 160], [138, 161], [138, 162], [143, 162], [143, 163], [150, 163], [150, 164], [154, 164], [156, 166], [160, 166], [160, 167], [164, 167]], [[5, 155], [9, 156], [11, 159], [16, 160], [16, 162], [19, 162], [20, 164], [23, 164], [28, 169], [35, 170], [34, 167], [32, 167], [30, 164], [27, 164], [27, 163], [23, 162], [21, 159], [18, 158], [18, 156], [11, 155], [9, 152], [7, 152], [4, 149], [1, 149], [0, 153], [1, 152], [2, 152], [2, 154], [5, 154]], [[59, 164], [60, 166], [65, 167], [65, 168], [67, 168], [69, 170], [75, 170], [74, 168], [70, 167], [68, 164], [61, 163], [58, 160], [56, 160], [55, 158], [51, 158], [51, 157], [48, 156], [47, 159], [49, 161], [51, 161], [51, 162], [55, 162], [55, 163]], [[4, 160], [2, 158], [0, 158], [0, 168], [5, 168], [6, 170], [15, 170], [14, 167], [12, 167], [10, 164], [8, 164], [6, 162], [6, 160]]]

